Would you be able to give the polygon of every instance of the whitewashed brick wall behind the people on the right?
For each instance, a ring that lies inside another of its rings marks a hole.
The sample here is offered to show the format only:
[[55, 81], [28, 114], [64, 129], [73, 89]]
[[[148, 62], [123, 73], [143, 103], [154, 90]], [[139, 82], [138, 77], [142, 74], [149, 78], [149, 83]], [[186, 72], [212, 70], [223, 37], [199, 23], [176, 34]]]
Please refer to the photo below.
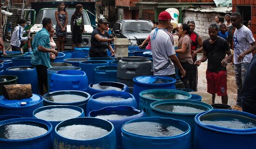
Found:
[[201, 13], [201, 12], [183, 12], [183, 23], [187, 23], [188, 21], [195, 21], [195, 32], [198, 33], [203, 40], [209, 38], [208, 27], [216, 23], [215, 16], [224, 17], [225, 14], [217, 14], [217, 13]]

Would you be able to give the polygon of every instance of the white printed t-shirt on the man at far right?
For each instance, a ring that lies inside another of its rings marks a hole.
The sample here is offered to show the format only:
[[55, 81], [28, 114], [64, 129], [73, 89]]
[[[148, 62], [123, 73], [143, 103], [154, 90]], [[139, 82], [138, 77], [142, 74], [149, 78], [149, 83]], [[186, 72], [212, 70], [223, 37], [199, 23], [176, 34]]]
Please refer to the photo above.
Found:
[[[236, 29], [234, 33], [234, 64], [239, 64], [237, 58], [239, 54], [248, 50], [251, 47], [251, 43], [255, 42], [253, 34], [249, 28], [242, 26], [239, 29]], [[252, 53], [245, 55], [243, 61], [240, 63], [250, 63], [252, 58]]]

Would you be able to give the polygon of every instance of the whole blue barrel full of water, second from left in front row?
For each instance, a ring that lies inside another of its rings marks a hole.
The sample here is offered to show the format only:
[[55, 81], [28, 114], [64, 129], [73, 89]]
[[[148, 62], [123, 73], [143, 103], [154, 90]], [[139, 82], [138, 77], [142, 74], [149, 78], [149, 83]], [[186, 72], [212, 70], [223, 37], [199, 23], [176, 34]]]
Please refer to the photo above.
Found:
[[[71, 131], [67, 128], [85, 129]], [[86, 129], [88, 127], [88, 129]], [[66, 129], [64, 129], [66, 128]], [[90, 129], [92, 128], [92, 129]], [[94, 128], [94, 129], [93, 129]], [[59, 130], [68, 134], [62, 135]], [[101, 135], [96, 136], [95, 133]], [[79, 117], [59, 123], [55, 128], [54, 149], [116, 149], [115, 128], [112, 123], [94, 117]], [[79, 136], [77, 136], [79, 134]], [[76, 137], [76, 138], [74, 138]], [[77, 138], [81, 137], [81, 138]]]

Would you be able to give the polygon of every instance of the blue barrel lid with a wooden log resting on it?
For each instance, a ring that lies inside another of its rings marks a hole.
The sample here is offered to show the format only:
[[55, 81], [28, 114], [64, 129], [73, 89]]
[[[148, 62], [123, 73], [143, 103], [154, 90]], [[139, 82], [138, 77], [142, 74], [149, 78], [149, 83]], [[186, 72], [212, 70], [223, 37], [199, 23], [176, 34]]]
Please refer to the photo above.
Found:
[[2, 108], [27, 108], [40, 104], [41, 102], [43, 102], [43, 97], [37, 94], [33, 94], [33, 96], [30, 98], [20, 100], [8, 100], [6, 97], [0, 96], [0, 107]]

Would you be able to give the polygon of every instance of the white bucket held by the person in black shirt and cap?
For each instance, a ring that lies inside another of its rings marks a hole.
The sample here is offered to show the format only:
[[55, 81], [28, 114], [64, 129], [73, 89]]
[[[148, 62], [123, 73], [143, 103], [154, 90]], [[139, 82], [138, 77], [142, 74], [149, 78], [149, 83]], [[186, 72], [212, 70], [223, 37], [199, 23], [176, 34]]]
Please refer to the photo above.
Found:
[[128, 57], [129, 39], [115, 39], [114, 45], [116, 58]]

